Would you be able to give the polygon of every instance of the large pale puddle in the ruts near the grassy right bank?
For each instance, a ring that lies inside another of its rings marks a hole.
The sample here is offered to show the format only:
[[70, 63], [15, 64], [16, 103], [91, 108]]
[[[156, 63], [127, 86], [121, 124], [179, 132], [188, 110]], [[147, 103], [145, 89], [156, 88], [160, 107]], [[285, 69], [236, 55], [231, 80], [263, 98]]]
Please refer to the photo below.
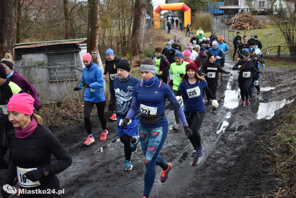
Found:
[[282, 108], [286, 104], [293, 102], [293, 100], [277, 100], [268, 103], [257, 103], [252, 106], [252, 112], [256, 114], [257, 119], [271, 119], [274, 116], [274, 111]]

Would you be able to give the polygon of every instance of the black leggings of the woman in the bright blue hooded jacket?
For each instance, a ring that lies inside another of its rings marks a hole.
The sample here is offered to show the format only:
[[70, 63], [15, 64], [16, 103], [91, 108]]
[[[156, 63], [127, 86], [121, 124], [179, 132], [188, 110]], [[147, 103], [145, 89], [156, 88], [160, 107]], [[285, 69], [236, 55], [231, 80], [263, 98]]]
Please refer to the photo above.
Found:
[[91, 132], [92, 126], [91, 126], [90, 117], [91, 117], [91, 110], [93, 109], [94, 104], [96, 104], [96, 109], [98, 112], [99, 120], [102, 125], [102, 129], [106, 130], [106, 126], [107, 126], [107, 120], [104, 115], [106, 100], [104, 100], [103, 102], [99, 102], [99, 103], [92, 103], [92, 102], [84, 100], [84, 124], [85, 124], [86, 132], [88, 135], [92, 134], [92, 132]]

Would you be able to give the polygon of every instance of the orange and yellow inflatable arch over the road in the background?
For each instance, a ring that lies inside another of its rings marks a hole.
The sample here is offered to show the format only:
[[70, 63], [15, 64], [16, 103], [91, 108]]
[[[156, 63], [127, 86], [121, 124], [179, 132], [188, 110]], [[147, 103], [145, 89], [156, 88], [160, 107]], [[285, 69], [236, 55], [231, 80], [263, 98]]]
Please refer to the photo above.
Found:
[[187, 26], [187, 23], [191, 24], [191, 8], [189, 8], [184, 3], [174, 3], [174, 4], [159, 4], [155, 10], [153, 10], [153, 24], [154, 29], [160, 29], [160, 12], [163, 10], [177, 10], [181, 9], [184, 11], [184, 27]]

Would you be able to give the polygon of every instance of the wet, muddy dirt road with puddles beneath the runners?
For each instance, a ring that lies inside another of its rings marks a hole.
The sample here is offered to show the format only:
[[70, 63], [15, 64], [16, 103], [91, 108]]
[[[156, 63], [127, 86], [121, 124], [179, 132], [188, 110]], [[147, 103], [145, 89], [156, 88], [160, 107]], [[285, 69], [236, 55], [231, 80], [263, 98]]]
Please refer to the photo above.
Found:
[[[183, 129], [171, 130], [175, 120], [173, 110], [166, 110], [170, 130], [160, 154], [172, 163], [173, 169], [169, 179], [161, 183], [161, 168], [157, 167], [150, 197], [250, 197], [274, 188], [276, 180], [269, 172], [270, 163], [263, 158], [269, 151], [257, 142], [279, 124], [282, 114], [295, 106], [296, 71], [262, 68], [261, 94], [254, 92], [251, 105], [241, 107], [238, 72], [230, 69], [235, 62], [229, 60], [227, 57], [224, 69], [231, 74], [225, 74], [224, 80], [218, 82], [219, 107], [212, 111], [211, 106], [206, 106], [200, 128], [202, 157], [191, 157], [190, 141]], [[110, 113], [106, 112], [108, 117]], [[90, 146], [83, 145], [84, 123], [53, 130], [73, 157], [73, 164], [58, 174], [61, 189], [65, 189], [62, 197], [141, 197], [145, 159], [140, 146], [132, 154], [133, 169], [124, 172], [123, 144], [116, 122], [107, 123], [109, 133], [105, 141], [99, 140], [98, 118], [92, 118], [92, 123], [95, 142]], [[6, 171], [0, 173], [3, 181]]]

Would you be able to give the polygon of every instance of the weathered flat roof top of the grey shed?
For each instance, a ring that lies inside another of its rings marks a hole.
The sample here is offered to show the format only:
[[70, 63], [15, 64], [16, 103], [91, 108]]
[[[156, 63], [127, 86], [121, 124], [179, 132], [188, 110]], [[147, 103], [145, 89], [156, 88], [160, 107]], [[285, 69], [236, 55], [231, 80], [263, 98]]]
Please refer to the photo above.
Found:
[[59, 44], [81, 44], [86, 41], [86, 38], [84, 39], [73, 39], [73, 40], [61, 40], [61, 41], [44, 41], [44, 42], [34, 42], [34, 43], [17, 43], [15, 44], [15, 49], [20, 48], [31, 48], [31, 47], [43, 47], [43, 46], [49, 46], [49, 45], [59, 45]]

